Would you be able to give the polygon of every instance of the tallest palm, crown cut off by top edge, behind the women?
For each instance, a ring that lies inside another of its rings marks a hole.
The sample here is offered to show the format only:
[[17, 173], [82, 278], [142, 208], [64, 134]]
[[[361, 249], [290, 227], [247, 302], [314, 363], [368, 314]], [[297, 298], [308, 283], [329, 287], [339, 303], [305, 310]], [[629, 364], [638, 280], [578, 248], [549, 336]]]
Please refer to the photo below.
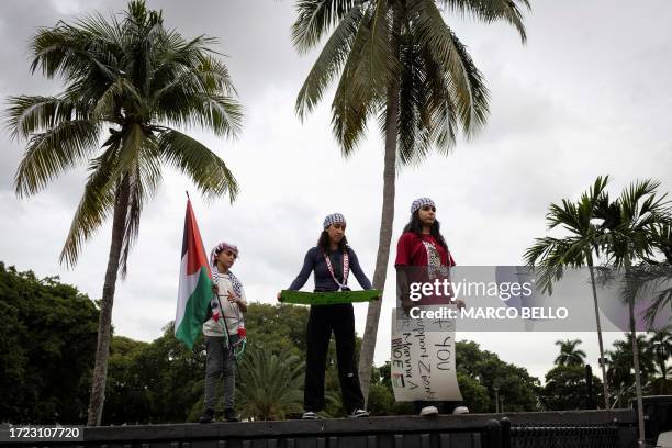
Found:
[[[438, 3], [438, 5], [437, 5]], [[485, 122], [488, 89], [441, 9], [484, 22], [503, 20], [526, 40], [518, 8], [527, 0], [298, 0], [292, 29], [300, 53], [333, 33], [296, 99], [304, 117], [338, 78], [332, 126], [345, 156], [352, 154], [367, 122], [384, 134], [383, 201], [373, 288], [383, 289], [394, 220], [397, 165], [419, 163], [437, 147], [447, 154], [461, 128], [473, 134]], [[440, 7], [440, 8], [439, 8]], [[359, 358], [368, 396], [381, 301], [371, 302]]]

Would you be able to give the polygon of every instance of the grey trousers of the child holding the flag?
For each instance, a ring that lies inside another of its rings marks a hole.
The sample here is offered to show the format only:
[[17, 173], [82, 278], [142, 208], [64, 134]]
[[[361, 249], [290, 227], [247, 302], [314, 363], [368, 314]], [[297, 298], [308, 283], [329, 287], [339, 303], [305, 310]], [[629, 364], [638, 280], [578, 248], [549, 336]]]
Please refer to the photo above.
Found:
[[[231, 335], [232, 344], [238, 335]], [[236, 365], [224, 336], [205, 336], [205, 408], [214, 410], [220, 374], [224, 377], [224, 408], [233, 408], [236, 393]]]

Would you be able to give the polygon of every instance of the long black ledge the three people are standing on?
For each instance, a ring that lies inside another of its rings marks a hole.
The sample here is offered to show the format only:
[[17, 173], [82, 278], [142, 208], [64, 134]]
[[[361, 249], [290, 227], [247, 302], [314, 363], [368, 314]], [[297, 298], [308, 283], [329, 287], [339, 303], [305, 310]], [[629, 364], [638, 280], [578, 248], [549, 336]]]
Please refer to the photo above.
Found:
[[83, 441], [12, 443], [7, 447], [82, 448], [630, 448], [631, 410], [391, 416], [102, 426]]

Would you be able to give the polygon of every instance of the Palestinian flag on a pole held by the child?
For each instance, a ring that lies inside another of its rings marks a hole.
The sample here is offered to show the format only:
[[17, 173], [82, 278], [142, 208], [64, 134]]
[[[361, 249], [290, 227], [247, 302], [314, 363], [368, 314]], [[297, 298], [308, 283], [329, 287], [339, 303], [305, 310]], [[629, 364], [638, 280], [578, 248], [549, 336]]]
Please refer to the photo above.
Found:
[[193, 347], [201, 333], [211, 295], [212, 280], [208, 257], [191, 201], [187, 200], [175, 337], [184, 343], [189, 349]]

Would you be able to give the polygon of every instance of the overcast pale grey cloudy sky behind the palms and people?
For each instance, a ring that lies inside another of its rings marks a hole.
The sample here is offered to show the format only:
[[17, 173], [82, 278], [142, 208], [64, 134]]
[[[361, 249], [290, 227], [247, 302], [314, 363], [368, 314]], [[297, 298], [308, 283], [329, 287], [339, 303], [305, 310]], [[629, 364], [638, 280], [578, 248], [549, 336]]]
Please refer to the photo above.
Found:
[[[234, 270], [249, 300], [273, 303], [301, 268], [323, 217], [338, 211], [347, 235], [372, 277], [382, 199], [383, 142], [376, 123], [360, 148], [344, 159], [331, 134], [329, 99], [301, 123], [294, 100], [316, 53], [298, 56], [290, 38], [290, 0], [183, 2], [149, 0], [165, 22], [191, 37], [221, 40], [239, 100], [244, 131], [235, 141], [192, 133], [215, 150], [240, 184], [227, 199], [204, 203], [182, 176], [168, 171], [143, 213], [130, 272], [117, 284], [113, 325], [119, 335], [152, 340], [175, 318], [181, 235], [191, 198], [206, 250], [222, 239], [240, 248]], [[49, 94], [59, 81], [29, 72], [27, 43], [38, 26], [92, 11], [111, 13], [125, 1], [51, 0], [0, 3], [0, 97]], [[551, 202], [576, 198], [600, 175], [611, 190], [639, 178], [672, 191], [672, 3], [667, 0], [533, 1], [528, 43], [504, 24], [446, 16], [468, 45], [491, 91], [486, 127], [448, 156], [405, 168], [396, 181], [395, 239], [417, 197], [432, 197], [451, 251], [462, 266], [519, 265], [535, 237], [546, 234]], [[0, 131], [0, 260], [37, 276], [58, 275], [91, 298], [102, 291], [110, 225], [91, 239], [79, 265], [65, 270], [58, 255], [82, 192], [83, 167], [43, 192], [18, 200], [12, 180], [25, 143]], [[388, 284], [393, 284], [390, 267]], [[351, 279], [355, 282], [355, 279]], [[304, 287], [311, 290], [312, 280]], [[376, 363], [390, 356], [388, 289]], [[366, 305], [356, 305], [361, 335]], [[611, 345], [619, 334], [606, 336]], [[542, 379], [557, 355], [553, 341], [580, 337], [597, 371], [597, 344], [583, 334], [462, 334], [502, 359]]]

